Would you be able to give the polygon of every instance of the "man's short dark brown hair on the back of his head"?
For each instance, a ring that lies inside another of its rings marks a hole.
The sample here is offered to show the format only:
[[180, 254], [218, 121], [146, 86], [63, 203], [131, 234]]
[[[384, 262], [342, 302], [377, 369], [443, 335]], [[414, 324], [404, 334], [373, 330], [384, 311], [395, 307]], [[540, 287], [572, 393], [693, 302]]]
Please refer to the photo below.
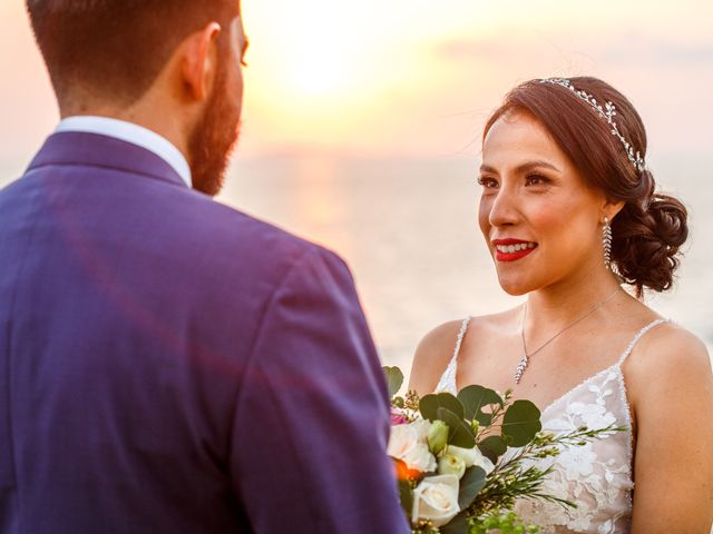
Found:
[[227, 30], [240, 14], [240, 2], [27, 0], [27, 9], [60, 102], [81, 88], [130, 105], [148, 90], [183, 39], [212, 21]]

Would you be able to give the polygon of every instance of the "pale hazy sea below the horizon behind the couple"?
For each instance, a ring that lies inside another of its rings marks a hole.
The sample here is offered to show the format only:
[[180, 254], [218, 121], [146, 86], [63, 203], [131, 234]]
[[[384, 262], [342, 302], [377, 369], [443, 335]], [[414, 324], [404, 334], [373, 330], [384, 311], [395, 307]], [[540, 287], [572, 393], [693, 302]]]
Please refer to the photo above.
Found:
[[[713, 347], [713, 186], [704, 158], [651, 161], [690, 209], [675, 287], [647, 303]], [[336, 250], [350, 264], [382, 360], [410, 369], [434, 326], [521, 301], [499, 287], [477, 227], [477, 157], [270, 158], [233, 164], [219, 200]]]

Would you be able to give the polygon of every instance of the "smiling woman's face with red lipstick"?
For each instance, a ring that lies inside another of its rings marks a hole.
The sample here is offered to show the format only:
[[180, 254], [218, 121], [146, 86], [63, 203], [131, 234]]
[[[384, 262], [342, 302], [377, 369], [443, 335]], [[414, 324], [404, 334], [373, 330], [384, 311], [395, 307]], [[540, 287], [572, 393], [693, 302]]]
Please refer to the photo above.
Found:
[[510, 295], [603, 269], [604, 195], [529, 112], [506, 113], [482, 148], [479, 222]]

